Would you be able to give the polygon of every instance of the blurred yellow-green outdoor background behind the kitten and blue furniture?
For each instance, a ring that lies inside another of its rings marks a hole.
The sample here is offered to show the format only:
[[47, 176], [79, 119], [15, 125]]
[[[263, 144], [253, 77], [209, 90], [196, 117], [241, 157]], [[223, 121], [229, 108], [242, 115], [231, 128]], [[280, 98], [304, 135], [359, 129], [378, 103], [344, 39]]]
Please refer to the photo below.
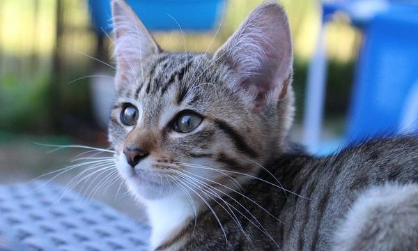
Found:
[[[177, 52], [186, 47], [187, 51], [214, 52], [259, 3], [261, 0], [226, 1], [222, 24], [219, 18], [211, 31], [185, 32], [185, 43], [179, 31], [158, 31], [153, 36], [164, 50]], [[295, 47], [297, 114], [292, 137], [300, 140], [307, 69], [321, 15], [315, 0], [281, 3], [290, 18]], [[102, 4], [109, 2], [103, 0]], [[362, 33], [343, 13], [334, 15], [326, 31], [324, 139], [342, 135], [346, 129], [353, 71], [362, 41]], [[68, 160], [80, 153], [63, 149], [47, 154], [52, 148], [34, 142], [108, 147], [106, 118], [95, 109], [100, 103], [95, 96], [102, 92], [98, 83], [112, 82], [109, 76], [114, 69], [106, 65], [114, 65], [111, 50], [111, 39], [93, 29], [86, 0], [0, 1], [0, 183], [29, 181], [69, 165]], [[70, 172], [56, 180], [65, 184], [72, 176]]]

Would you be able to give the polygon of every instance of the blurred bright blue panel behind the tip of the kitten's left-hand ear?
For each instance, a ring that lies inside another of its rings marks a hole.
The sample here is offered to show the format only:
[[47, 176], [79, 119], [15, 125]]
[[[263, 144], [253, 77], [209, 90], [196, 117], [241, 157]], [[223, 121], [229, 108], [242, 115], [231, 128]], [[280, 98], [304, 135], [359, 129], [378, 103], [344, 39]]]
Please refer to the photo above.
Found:
[[[88, 0], [95, 29], [111, 31], [110, 1]], [[207, 31], [222, 15], [225, 0], [126, 0], [152, 31], [179, 29]]]

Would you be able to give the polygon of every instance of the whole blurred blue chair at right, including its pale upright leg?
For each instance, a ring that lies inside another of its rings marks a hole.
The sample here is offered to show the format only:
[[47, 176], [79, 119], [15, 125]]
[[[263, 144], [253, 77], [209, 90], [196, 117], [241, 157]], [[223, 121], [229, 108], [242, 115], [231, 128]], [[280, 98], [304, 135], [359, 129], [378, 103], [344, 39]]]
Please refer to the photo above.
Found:
[[[335, 151], [338, 144], [355, 142], [357, 139], [378, 134], [382, 130], [413, 129], [414, 121], [418, 118], [418, 106], [415, 101], [418, 91], [412, 87], [417, 82], [413, 75], [417, 73], [415, 66], [418, 65], [418, 57], [415, 54], [417, 49], [413, 48], [417, 44], [418, 36], [415, 14], [418, 13], [417, 1], [409, 3], [383, 0], [336, 1], [323, 3], [322, 8], [323, 25], [318, 36], [316, 53], [309, 67], [304, 116], [304, 144], [309, 151], [330, 153]], [[346, 137], [332, 144], [320, 146], [326, 75], [324, 26], [330, 22], [336, 11], [347, 13], [353, 24], [362, 29], [366, 39], [357, 63]], [[387, 30], [385, 26], [390, 29]], [[400, 51], [408, 54], [408, 59], [398, 58]], [[402, 70], [397, 68], [399, 63], [395, 61], [396, 59], [403, 62]], [[385, 61], [385, 67], [391, 69], [391, 77], [398, 79], [399, 84], [387, 82], [389, 79], [382, 73], [384, 70], [382, 60]], [[406, 63], [407, 61], [409, 63]], [[396, 100], [391, 100], [396, 104], [383, 107], [382, 104], [385, 102], [382, 100], [385, 98], [389, 100], [388, 96], [394, 97], [395, 93]], [[409, 98], [406, 97], [407, 93], [410, 93]], [[380, 102], [372, 103], [372, 99], [379, 99]], [[405, 102], [407, 99], [408, 104]], [[405, 115], [395, 116], [395, 114]]]

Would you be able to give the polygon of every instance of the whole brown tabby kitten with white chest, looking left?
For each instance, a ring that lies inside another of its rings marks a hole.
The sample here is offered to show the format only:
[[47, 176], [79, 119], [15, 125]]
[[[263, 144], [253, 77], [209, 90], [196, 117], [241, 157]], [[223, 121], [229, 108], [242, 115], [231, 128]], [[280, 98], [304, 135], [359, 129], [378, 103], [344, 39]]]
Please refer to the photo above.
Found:
[[117, 100], [109, 141], [148, 211], [153, 250], [412, 250], [418, 139], [317, 158], [294, 113], [284, 9], [263, 3], [214, 55], [164, 52], [112, 1]]

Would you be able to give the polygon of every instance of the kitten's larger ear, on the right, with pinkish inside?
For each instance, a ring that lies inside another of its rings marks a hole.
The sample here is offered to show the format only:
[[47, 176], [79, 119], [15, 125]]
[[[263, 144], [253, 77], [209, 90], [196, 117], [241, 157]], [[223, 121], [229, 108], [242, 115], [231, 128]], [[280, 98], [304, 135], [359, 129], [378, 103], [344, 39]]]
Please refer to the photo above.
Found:
[[293, 52], [288, 18], [279, 3], [263, 3], [253, 10], [233, 36], [214, 55], [238, 76], [238, 89], [254, 96], [256, 107], [267, 99], [286, 98], [291, 82]]

